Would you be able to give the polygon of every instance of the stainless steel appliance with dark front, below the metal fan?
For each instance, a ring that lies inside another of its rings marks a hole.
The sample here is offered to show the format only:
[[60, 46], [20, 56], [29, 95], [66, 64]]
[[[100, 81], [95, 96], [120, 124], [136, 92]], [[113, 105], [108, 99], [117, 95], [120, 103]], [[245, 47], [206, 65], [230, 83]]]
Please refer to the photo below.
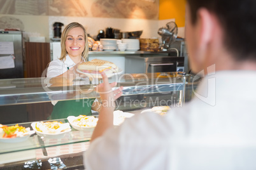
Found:
[[175, 41], [171, 51], [141, 51], [139, 55], [125, 56], [125, 73], [188, 72], [184, 41]]

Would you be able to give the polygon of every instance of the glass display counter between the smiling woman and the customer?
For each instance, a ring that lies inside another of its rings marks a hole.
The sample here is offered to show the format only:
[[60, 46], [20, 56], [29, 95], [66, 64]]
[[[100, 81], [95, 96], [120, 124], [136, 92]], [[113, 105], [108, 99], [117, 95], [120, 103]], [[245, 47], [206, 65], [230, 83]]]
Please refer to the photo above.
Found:
[[[0, 80], [0, 108], [3, 106], [43, 103], [53, 100], [98, 98], [100, 101], [99, 94], [94, 91], [94, 88], [96, 88], [97, 83], [101, 82], [101, 79], [93, 79], [94, 80], [91, 79], [90, 82], [96, 82], [96, 84], [85, 84], [83, 83], [83, 79], [79, 79], [73, 81], [70, 86], [65, 85], [67, 84], [65, 79], [55, 79], [55, 82], [41, 77], [31, 79], [3, 79]], [[162, 101], [169, 101], [169, 103], [165, 103], [165, 105], [171, 106], [177, 104], [181, 107], [186, 100], [192, 97], [190, 94], [192, 93], [191, 89], [190, 91], [186, 91], [192, 79], [192, 75], [183, 72], [169, 72], [164, 74], [122, 74], [110, 77], [109, 81], [118, 82], [118, 87], [124, 87], [123, 95], [116, 101], [117, 109], [129, 110], [129, 112], [136, 113], [136, 110], [162, 105], [162, 103], [160, 103]], [[17, 115], [18, 114], [17, 112]], [[68, 122], [67, 119], [54, 121]], [[15, 122], [15, 124], [16, 123], [25, 128], [31, 128], [32, 122]], [[6, 125], [11, 126], [11, 124]], [[70, 145], [76, 144], [89, 146], [91, 135], [92, 132], [77, 131], [71, 128], [71, 131], [60, 139], [40, 138], [37, 134], [32, 134], [28, 140], [22, 142], [0, 142], [0, 169], [13, 169], [20, 166], [24, 168], [24, 165], [31, 161], [36, 161], [36, 163], [33, 163], [35, 165], [38, 164], [38, 161], [39, 163], [41, 161], [41, 164], [45, 164], [42, 163], [43, 160], [49, 162], [49, 159], [52, 159], [51, 154], [47, 153], [48, 150], [46, 149], [50, 150], [50, 148], [69, 146], [68, 148], [70, 150]], [[71, 148], [71, 150], [74, 149]], [[84, 148], [84, 150], [86, 150], [86, 148]], [[82, 161], [81, 153], [84, 150], [77, 152], [78, 154], [80, 153], [80, 155], [78, 155], [80, 161]], [[41, 156], [38, 157], [36, 153], [39, 153]], [[77, 153], [74, 152], [73, 155]], [[59, 152], [58, 157], [62, 155], [65, 155], [65, 153]], [[69, 152], [68, 155], [68, 157], [71, 157], [72, 153], [70, 154]], [[22, 159], [15, 159], [15, 157]], [[72, 166], [67, 164], [68, 163], [66, 163], [66, 167]], [[77, 162], [74, 164], [76, 164], [76, 166], [78, 165]]]

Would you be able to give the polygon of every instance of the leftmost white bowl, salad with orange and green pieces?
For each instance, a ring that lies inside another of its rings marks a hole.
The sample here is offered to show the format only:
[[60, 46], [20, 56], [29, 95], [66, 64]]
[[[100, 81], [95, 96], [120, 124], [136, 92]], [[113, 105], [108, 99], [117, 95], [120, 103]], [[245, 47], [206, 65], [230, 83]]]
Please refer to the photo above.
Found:
[[5, 126], [0, 124], [0, 142], [16, 143], [25, 141], [33, 134], [30, 128], [19, 126], [18, 124], [13, 126]]

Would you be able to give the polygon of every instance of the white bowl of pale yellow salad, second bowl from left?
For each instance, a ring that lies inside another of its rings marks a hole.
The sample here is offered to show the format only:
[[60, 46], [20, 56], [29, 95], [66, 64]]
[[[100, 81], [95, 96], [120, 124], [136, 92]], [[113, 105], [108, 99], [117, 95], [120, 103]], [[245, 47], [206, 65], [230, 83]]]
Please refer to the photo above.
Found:
[[46, 138], [62, 138], [64, 133], [71, 131], [69, 123], [58, 121], [32, 122], [31, 126], [38, 136]]

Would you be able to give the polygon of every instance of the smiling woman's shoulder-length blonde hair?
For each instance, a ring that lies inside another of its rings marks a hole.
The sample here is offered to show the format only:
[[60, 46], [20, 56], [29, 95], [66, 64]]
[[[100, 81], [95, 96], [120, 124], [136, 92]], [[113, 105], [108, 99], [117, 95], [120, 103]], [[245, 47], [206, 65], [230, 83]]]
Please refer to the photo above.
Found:
[[66, 55], [68, 55], [67, 51], [66, 51], [66, 39], [68, 37], [68, 33], [71, 29], [76, 28], [76, 27], [80, 27], [83, 29], [83, 32], [85, 33], [85, 49], [83, 50], [82, 53], [82, 57], [85, 59], [85, 61], [87, 62], [87, 58], [88, 58], [88, 54], [89, 54], [89, 44], [88, 44], [88, 37], [87, 37], [87, 33], [85, 31], [85, 27], [83, 27], [83, 25], [81, 25], [78, 22], [71, 22], [69, 23], [65, 29], [62, 32], [61, 38], [60, 38], [60, 45], [61, 45], [61, 54], [60, 54], [60, 60], [66, 60]]

